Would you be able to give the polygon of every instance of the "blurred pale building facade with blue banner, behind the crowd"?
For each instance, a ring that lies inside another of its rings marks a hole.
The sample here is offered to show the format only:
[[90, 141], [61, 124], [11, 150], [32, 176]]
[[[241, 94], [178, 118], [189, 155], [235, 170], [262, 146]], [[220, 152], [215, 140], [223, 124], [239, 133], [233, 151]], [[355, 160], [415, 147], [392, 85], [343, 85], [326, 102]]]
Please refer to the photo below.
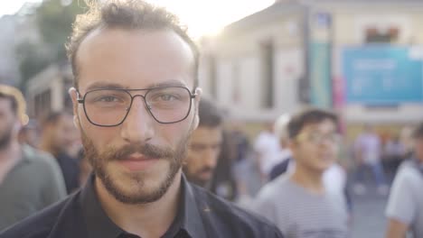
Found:
[[202, 41], [200, 80], [234, 117], [305, 105], [348, 124], [423, 118], [423, 2], [278, 1]]

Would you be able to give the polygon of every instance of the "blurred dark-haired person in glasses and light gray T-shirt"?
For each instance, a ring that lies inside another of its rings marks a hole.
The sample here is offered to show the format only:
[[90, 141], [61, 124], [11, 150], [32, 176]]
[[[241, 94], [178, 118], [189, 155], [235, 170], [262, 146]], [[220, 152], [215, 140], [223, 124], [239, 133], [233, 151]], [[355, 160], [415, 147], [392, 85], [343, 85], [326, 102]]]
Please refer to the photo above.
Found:
[[287, 124], [296, 167], [258, 192], [253, 205], [289, 238], [348, 237], [342, 191], [327, 189], [323, 174], [337, 154], [337, 117], [320, 109], [296, 114]]

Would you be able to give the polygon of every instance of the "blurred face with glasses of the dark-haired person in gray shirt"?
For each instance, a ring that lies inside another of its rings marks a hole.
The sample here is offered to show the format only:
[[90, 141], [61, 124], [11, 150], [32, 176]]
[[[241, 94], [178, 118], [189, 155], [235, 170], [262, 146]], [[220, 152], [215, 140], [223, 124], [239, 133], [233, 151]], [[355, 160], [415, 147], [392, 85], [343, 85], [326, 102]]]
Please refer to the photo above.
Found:
[[323, 173], [336, 160], [339, 136], [333, 121], [307, 124], [291, 142], [297, 166]]

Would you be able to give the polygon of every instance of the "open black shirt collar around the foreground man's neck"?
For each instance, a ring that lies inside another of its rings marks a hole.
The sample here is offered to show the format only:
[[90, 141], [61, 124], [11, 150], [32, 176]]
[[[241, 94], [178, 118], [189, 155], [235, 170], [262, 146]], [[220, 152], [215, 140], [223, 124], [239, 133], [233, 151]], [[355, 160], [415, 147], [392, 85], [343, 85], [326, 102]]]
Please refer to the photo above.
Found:
[[[175, 233], [184, 230], [191, 237], [206, 237], [204, 225], [202, 224], [202, 216], [200, 215], [193, 194], [193, 187], [188, 183], [184, 175], [181, 179], [182, 199], [179, 205], [180, 209], [174, 223], [169, 227], [170, 230], [166, 232], [166, 236], [169, 232], [173, 233], [172, 230], [175, 230]], [[80, 203], [85, 224], [89, 231], [89, 237], [116, 238], [119, 234], [125, 233], [125, 231], [118, 227], [117, 224], [114, 224], [103, 210], [99, 202], [99, 197], [97, 197], [94, 180], [95, 176], [91, 174], [80, 196]]]

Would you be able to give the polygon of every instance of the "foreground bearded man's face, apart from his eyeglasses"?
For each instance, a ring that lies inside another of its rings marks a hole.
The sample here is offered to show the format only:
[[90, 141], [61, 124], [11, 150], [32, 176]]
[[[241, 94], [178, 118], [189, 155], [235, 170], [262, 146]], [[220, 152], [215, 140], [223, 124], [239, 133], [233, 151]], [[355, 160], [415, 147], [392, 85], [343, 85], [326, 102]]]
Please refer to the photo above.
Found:
[[[182, 86], [193, 90], [193, 62], [189, 46], [171, 31], [91, 32], [77, 56], [80, 97], [99, 88]], [[131, 95], [139, 96], [134, 97], [123, 124], [101, 127], [89, 123], [76, 92], [71, 92], [97, 182], [122, 203], [143, 204], [163, 197], [180, 174], [186, 142], [198, 123], [199, 96], [183, 121], [159, 124], [146, 108], [146, 91], [131, 91]], [[108, 103], [110, 98], [100, 102]]]

